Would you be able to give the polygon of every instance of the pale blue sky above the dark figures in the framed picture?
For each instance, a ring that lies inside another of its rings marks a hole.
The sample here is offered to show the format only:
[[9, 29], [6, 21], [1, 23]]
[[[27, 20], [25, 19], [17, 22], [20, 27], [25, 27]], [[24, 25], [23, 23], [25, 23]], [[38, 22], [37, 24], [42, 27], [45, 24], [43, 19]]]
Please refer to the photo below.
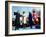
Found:
[[24, 6], [12, 6], [12, 18], [15, 18], [14, 12], [19, 11], [19, 13], [22, 15], [23, 11], [25, 11], [25, 16], [28, 16], [29, 13], [32, 13], [32, 10], [35, 9], [36, 11], [39, 11], [40, 8], [35, 8], [35, 7], [24, 7]]

